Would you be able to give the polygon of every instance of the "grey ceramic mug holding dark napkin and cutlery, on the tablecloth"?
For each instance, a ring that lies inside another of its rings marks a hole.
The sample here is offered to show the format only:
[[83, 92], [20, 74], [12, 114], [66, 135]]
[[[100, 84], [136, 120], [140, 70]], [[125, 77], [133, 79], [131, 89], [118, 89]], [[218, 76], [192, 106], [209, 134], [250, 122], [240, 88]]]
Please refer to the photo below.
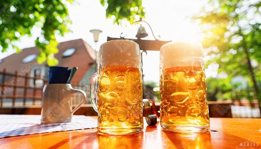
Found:
[[[73, 95], [83, 95], [82, 101], [73, 108]], [[71, 122], [73, 113], [86, 101], [86, 93], [80, 89], [73, 89], [71, 84], [47, 84], [43, 87], [41, 123]]]

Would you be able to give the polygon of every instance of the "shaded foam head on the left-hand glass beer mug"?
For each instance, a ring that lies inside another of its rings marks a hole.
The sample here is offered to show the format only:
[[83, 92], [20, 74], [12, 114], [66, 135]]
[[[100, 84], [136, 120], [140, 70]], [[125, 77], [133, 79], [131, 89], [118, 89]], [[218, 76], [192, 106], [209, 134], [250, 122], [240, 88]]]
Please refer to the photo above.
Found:
[[112, 40], [101, 45], [99, 60], [118, 58], [140, 60], [139, 45], [130, 40]]

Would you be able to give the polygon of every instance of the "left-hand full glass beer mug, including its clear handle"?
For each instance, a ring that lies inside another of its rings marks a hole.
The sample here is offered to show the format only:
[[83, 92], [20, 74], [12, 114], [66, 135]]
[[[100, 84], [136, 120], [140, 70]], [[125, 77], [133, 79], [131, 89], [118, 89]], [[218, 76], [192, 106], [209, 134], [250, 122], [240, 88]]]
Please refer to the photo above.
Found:
[[139, 45], [113, 40], [101, 45], [98, 73], [90, 97], [98, 112], [98, 134], [133, 134], [143, 130], [143, 95]]

